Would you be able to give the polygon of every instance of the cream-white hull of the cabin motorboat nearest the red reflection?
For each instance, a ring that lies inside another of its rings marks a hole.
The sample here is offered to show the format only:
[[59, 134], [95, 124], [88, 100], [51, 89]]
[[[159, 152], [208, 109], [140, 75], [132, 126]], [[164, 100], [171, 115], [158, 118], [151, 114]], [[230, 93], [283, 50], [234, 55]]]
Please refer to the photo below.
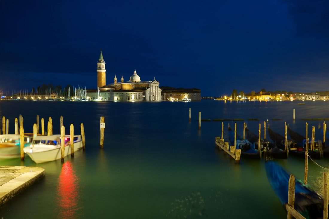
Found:
[[[74, 152], [78, 151], [81, 148], [82, 148], [82, 141], [78, 141], [74, 143]], [[32, 152], [32, 153], [30, 150], [27, 149], [25, 153], [36, 163], [44, 163], [44, 162], [58, 160], [61, 158], [60, 147], [48, 151]], [[71, 146], [66, 145], [64, 147], [64, 157], [70, 154], [71, 154]]]

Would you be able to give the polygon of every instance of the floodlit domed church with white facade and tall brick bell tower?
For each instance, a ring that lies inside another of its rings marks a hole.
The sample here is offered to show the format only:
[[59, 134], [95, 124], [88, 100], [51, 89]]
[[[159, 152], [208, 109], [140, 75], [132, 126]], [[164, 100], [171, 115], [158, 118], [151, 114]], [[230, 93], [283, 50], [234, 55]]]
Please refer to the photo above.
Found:
[[87, 99], [103, 101], [161, 101], [161, 89], [155, 77], [151, 81], [141, 81], [135, 71], [129, 81], [124, 81], [123, 75], [117, 82], [114, 75], [113, 83], [106, 84], [106, 68], [102, 50], [97, 62], [97, 90], [87, 90]]

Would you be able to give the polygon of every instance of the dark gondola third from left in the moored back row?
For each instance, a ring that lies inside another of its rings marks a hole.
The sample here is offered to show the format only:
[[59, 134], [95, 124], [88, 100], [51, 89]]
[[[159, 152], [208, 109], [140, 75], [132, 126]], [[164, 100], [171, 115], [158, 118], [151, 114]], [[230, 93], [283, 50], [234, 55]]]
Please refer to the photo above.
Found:
[[[274, 143], [276, 144], [276, 146], [282, 150], [285, 149], [285, 138], [276, 133], [273, 132], [273, 130], [270, 129], [270, 127], [268, 126], [268, 135], [269, 137], [272, 139], [272, 141], [274, 141]], [[289, 154], [292, 156], [296, 156], [296, 157], [300, 157], [300, 158], [305, 158], [305, 148], [302, 147], [303, 143], [298, 144], [296, 141], [294, 140], [287, 140], [287, 147], [289, 149]], [[309, 145], [311, 145], [311, 143], [309, 142]], [[309, 149], [309, 156], [312, 159], [321, 159], [321, 155], [320, 153], [318, 153], [318, 151], [312, 151]]]

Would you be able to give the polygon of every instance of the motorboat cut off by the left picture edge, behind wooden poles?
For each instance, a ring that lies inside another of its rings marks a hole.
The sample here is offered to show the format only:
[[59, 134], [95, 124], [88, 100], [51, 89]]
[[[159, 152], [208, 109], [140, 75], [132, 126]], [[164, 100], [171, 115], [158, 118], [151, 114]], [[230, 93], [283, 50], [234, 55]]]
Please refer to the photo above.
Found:
[[[24, 134], [24, 147], [30, 145], [33, 134]], [[20, 136], [19, 134], [0, 135], [0, 158], [20, 157]]]

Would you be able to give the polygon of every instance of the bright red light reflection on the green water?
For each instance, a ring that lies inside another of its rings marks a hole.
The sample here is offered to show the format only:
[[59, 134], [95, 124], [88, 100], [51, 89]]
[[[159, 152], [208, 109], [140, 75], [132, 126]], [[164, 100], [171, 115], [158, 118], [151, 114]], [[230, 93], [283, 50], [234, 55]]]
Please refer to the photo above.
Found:
[[79, 184], [78, 178], [72, 168], [72, 163], [63, 163], [57, 186], [58, 218], [79, 218]]

